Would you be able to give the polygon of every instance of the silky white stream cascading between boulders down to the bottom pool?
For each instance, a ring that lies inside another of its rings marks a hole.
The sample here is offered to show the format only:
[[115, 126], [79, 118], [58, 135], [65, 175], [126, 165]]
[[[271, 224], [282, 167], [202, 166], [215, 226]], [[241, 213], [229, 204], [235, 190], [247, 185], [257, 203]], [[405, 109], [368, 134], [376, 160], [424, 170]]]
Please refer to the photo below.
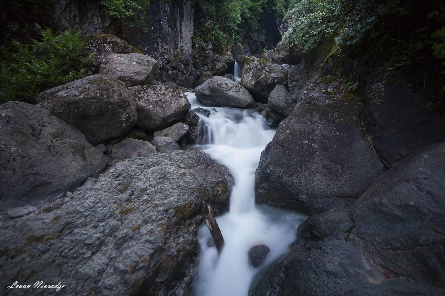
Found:
[[[270, 253], [262, 266], [287, 251], [295, 240], [298, 225], [306, 217], [266, 206], [255, 206], [255, 170], [261, 152], [275, 130], [267, 128], [258, 112], [235, 108], [206, 107], [194, 93], [186, 93], [191, 110], [202, 107], [210, 110], [209, 118], [201, 117], [200, 124], [208, 130], [206, 145], [195, 145], [229, 168], [235, 178], [230, 197], [230, 210], [217, 217], [224, 237], [224, 247], [218, 256], [216, 248], [208, 247], [210, 231], [202, 225], [198, 231], [200, 265], [195, 283], [196, 296], [247, 296], [251, 280], [260, 268], [248, 259], [248, 250], [258, 244], [267, 245]], [[216, 109], [216, 111], [215, 111]]]

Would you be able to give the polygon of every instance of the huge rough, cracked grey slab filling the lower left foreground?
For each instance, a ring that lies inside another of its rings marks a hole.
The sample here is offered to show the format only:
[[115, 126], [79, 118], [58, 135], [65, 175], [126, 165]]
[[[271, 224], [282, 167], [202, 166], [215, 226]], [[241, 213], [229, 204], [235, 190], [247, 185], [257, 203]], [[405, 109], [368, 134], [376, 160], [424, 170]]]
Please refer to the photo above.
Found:
[[206, 205], [227, 210], [232, 183], [199, 150], [118, 162], [93, 186], [26, 217], [0, 216], [2, 282], [61, 282], [63, 295], [190, 295]]

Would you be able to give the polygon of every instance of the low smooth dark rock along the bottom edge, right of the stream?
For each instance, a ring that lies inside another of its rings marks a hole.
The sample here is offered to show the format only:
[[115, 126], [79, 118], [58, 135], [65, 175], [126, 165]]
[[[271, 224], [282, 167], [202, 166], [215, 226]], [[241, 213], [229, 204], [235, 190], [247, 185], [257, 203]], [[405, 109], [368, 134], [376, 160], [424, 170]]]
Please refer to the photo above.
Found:
[[[342, 240], [302, 240], [257, 274], [249, 296], [435, 295], [444, 291], [401, 278], [385, 280]], [[396, 293], [396, 294], [394, 294]]]

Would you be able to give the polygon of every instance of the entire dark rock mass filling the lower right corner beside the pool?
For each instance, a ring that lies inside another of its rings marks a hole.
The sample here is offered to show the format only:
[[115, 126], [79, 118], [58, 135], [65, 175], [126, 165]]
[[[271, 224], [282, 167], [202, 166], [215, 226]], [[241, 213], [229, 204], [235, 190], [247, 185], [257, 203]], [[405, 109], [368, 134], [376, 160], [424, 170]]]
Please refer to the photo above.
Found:
[[445, 142], [429, 146], [382, 174], [350, 209], [309, 217], [249, 296], [444, 295], [444, 151]]

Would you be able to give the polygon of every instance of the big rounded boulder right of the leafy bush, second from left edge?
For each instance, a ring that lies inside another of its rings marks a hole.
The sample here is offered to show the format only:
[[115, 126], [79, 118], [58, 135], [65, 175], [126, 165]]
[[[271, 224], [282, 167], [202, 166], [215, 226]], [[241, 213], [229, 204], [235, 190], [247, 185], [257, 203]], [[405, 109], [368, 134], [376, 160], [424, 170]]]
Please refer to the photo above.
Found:
[[103, 74], [41, 92], [44, 108], [80, 130], [93, 145], [116, 138], [136, 123], [136, 105], [124, 84]]

